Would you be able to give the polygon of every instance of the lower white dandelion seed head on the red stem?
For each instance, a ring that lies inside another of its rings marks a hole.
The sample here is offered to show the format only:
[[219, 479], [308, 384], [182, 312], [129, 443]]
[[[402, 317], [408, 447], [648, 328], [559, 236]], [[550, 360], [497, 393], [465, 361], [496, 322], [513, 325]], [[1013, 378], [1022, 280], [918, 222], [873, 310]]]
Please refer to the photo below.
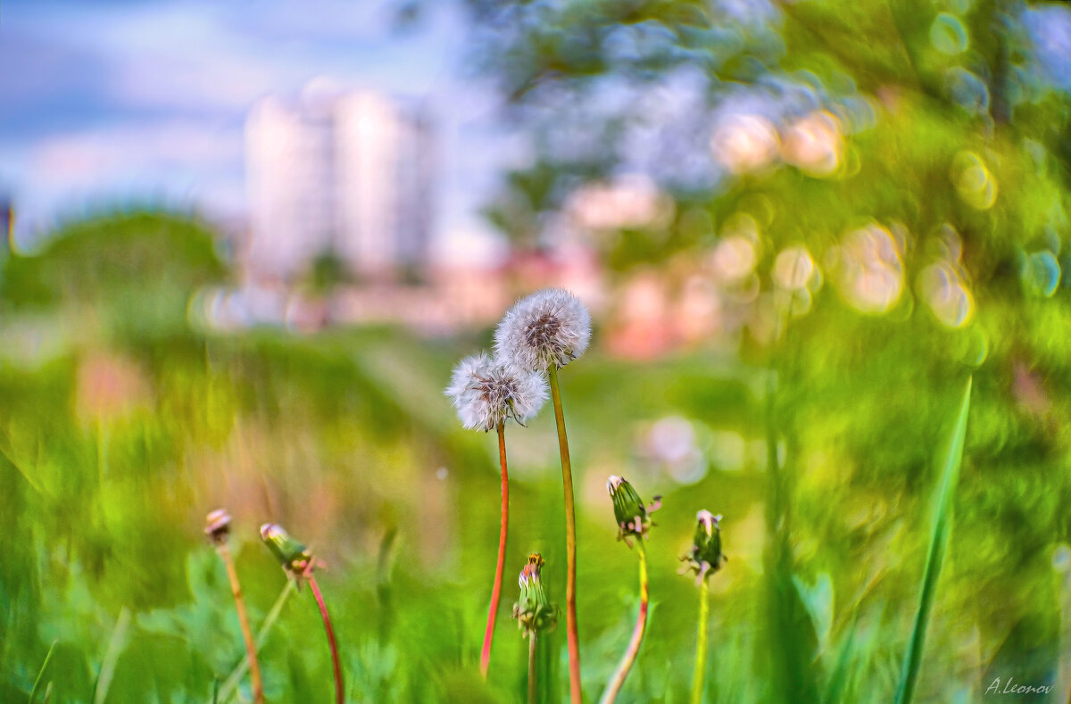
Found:
[[513, 418], [524, 422], [546, 401], [546, 380], [534, 371], [511, 368], [486, 352], [462, 359], [447, 387], [457, 417], [469, 430], [492, 430]]

